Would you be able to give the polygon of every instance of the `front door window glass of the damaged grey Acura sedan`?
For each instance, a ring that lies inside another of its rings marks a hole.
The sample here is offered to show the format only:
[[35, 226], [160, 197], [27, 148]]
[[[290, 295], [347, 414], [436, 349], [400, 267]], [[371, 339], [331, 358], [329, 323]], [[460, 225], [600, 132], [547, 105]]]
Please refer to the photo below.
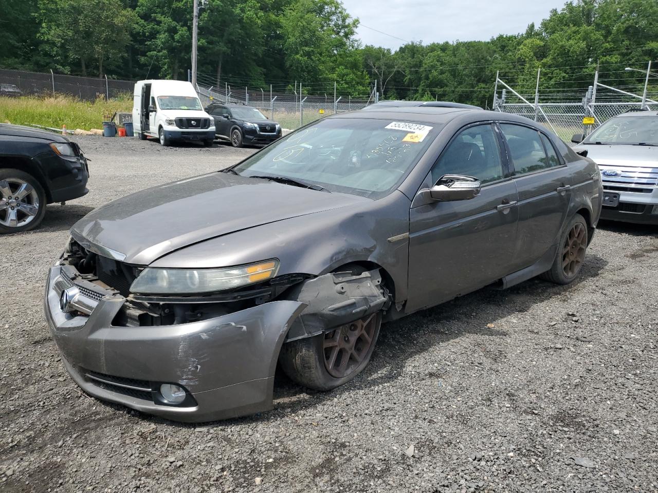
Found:
[[447, 174], [474, 176], [480, 183], [504, 177], [498, 139], [490, 124], [457, 133], [434, 164], [432, 183]]

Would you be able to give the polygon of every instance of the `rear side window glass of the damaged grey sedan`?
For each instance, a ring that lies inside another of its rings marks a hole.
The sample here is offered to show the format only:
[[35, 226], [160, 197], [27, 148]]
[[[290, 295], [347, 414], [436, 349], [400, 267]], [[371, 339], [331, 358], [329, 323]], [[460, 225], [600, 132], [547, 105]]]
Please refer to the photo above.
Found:
[[560, 164], [555, 149], [549, 142], [547, 149], [550, 155], [546, 155], [543, 136], [538, 131], [512, 124], [500, 124], [500, 129], [507, 140], [516, 175], [533, 173]]

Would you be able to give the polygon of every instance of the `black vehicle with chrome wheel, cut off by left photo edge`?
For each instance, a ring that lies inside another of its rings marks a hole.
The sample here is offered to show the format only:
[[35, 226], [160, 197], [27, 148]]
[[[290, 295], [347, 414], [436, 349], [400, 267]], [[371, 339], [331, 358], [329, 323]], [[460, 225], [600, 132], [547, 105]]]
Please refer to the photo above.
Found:
[[63, 135], [0, 124], [0, 235], [37, 227], [46, 204], [88, 192], [89, 168]]

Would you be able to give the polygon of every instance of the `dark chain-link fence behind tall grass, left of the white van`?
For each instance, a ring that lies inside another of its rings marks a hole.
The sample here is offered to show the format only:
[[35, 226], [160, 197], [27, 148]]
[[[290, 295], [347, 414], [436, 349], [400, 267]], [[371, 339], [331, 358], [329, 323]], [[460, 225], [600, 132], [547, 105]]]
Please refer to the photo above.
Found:
[[63, 74], [0, 69], [0, 96], [68, 94], [84, 101], [98, 97], [113, 98], [132, 94], [135, 83], [129, 80], [67, 76]]

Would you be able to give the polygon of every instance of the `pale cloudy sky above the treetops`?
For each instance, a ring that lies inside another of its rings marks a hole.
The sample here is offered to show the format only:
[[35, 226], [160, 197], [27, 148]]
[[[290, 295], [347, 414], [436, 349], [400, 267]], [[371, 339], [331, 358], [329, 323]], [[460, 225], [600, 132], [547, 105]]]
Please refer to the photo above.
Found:
[[396, 49], [406, 41], [427, 45], [519, 34], [530, 22], [538, 26], [551, 9], [561, 9], [566, 0], [342, 1], [347, 12], [361, 21], [357, 32], [364, 45]]

